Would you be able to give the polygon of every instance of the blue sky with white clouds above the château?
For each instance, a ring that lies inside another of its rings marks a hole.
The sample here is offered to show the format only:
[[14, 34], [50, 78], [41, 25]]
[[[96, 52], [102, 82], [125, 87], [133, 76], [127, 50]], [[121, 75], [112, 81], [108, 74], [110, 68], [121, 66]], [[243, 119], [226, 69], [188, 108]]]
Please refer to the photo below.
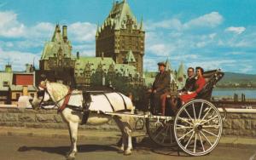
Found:
[[[145, 29], [144, 71], [170, 60], [173, 69], [202, 66], [256, 74], [256, 1], [126, 0]], [[73, 54], [95, 56], [97, 24], [113, 0], [0, 0], [0, 71], [38, 60], [54, 33], [67, 25]]]

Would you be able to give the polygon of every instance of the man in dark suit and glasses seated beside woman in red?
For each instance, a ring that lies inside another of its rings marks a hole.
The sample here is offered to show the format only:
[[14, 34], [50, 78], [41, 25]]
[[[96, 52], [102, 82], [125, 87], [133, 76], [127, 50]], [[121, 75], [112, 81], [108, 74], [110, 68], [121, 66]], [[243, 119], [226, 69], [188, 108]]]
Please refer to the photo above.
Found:
[[188, 71], [188, 78], [186, 79], [185, 86], [180, 91], [182, 94], [187, 94], [188, 92], [195, 91], [195, 70], [193, 67], [189, 67]]

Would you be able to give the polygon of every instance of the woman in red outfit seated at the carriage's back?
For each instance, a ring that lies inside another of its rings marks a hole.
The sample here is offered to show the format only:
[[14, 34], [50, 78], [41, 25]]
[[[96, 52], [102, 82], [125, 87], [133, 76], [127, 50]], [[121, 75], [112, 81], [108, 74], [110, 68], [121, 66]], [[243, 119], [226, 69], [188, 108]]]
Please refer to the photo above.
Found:
[[195, 71], [196, 71], [196, 76], [197, 76], [197, 80], [195, 82], [195, 91], [192, 91], [192, 92], [188, 91], [188, 94], [180, 95], [180, 99], [183, 101], [183, 104], [187, 103], [189, 100], [195, 98], [196, 95], [201, 91], [201, 89], [203, 89], [203, 87], [206, 84], [206, 80], [203, 77], [204, 70], [200, 66], [197, 66], [195, 68]]

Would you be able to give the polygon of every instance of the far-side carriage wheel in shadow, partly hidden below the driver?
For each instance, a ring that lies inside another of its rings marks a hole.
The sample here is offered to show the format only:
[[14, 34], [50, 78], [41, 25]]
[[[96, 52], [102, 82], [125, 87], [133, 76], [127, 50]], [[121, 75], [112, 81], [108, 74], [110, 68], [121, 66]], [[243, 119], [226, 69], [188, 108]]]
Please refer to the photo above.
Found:
[[146, 119], [146, 129], [150, 139], [160, 146], [176, 145], [173, 134], [173, 120], [165, 121], [159, 119], [159, 123], [157, 123], [157, 121], [156, 118]]

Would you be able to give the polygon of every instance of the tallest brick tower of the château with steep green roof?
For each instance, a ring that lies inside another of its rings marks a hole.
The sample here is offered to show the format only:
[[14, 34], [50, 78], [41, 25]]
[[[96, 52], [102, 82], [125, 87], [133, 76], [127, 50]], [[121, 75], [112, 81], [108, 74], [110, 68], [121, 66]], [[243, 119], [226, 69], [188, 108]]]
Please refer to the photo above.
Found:
[[[140, 24], [132, 14], [128, 3], [113, 3], [108, 17], [96, 31], [96, 57], [111, 57], [117, 64], [127, 63], [127, 54], [134, 56], [133, 66], [143, 75], [145, 46], [143, 19]], [[128, 55], [129, 57], [129, 55]]]

